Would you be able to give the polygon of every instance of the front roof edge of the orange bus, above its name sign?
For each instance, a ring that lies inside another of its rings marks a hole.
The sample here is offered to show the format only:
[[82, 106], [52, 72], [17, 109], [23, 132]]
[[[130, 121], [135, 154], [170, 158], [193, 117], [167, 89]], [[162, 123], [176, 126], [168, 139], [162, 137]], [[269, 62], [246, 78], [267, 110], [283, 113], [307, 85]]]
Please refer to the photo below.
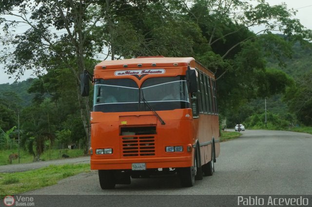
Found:
[[[137, 68], [138, 64], [141, 64], [140, 67], [152, 67], [152, 64], [160, 67], [172, 67], [174, 63], [177, 63], [178, 66], [188, 66], [193, 57], [139, 57], [134, 59], [122, 59], [122, 60], [104, 60], [98, 65], [95, 69], [117, 69], [117, 68]], [[124, 67], [124, 65], [127, 65]]]

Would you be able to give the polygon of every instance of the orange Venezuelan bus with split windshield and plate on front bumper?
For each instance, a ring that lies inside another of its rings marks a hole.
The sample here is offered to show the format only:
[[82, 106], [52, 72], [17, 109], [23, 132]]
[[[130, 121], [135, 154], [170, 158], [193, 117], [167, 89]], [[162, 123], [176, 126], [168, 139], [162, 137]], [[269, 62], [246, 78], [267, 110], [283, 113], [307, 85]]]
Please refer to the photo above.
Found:
[[[81, 74], [81, 94], [88, 95]], [[177, 173], [183, 187], [213, 175], [220, 153], [215, 75], [192, 57], [139, 57], [95, 66], [91, 169], [102, 189]]]

